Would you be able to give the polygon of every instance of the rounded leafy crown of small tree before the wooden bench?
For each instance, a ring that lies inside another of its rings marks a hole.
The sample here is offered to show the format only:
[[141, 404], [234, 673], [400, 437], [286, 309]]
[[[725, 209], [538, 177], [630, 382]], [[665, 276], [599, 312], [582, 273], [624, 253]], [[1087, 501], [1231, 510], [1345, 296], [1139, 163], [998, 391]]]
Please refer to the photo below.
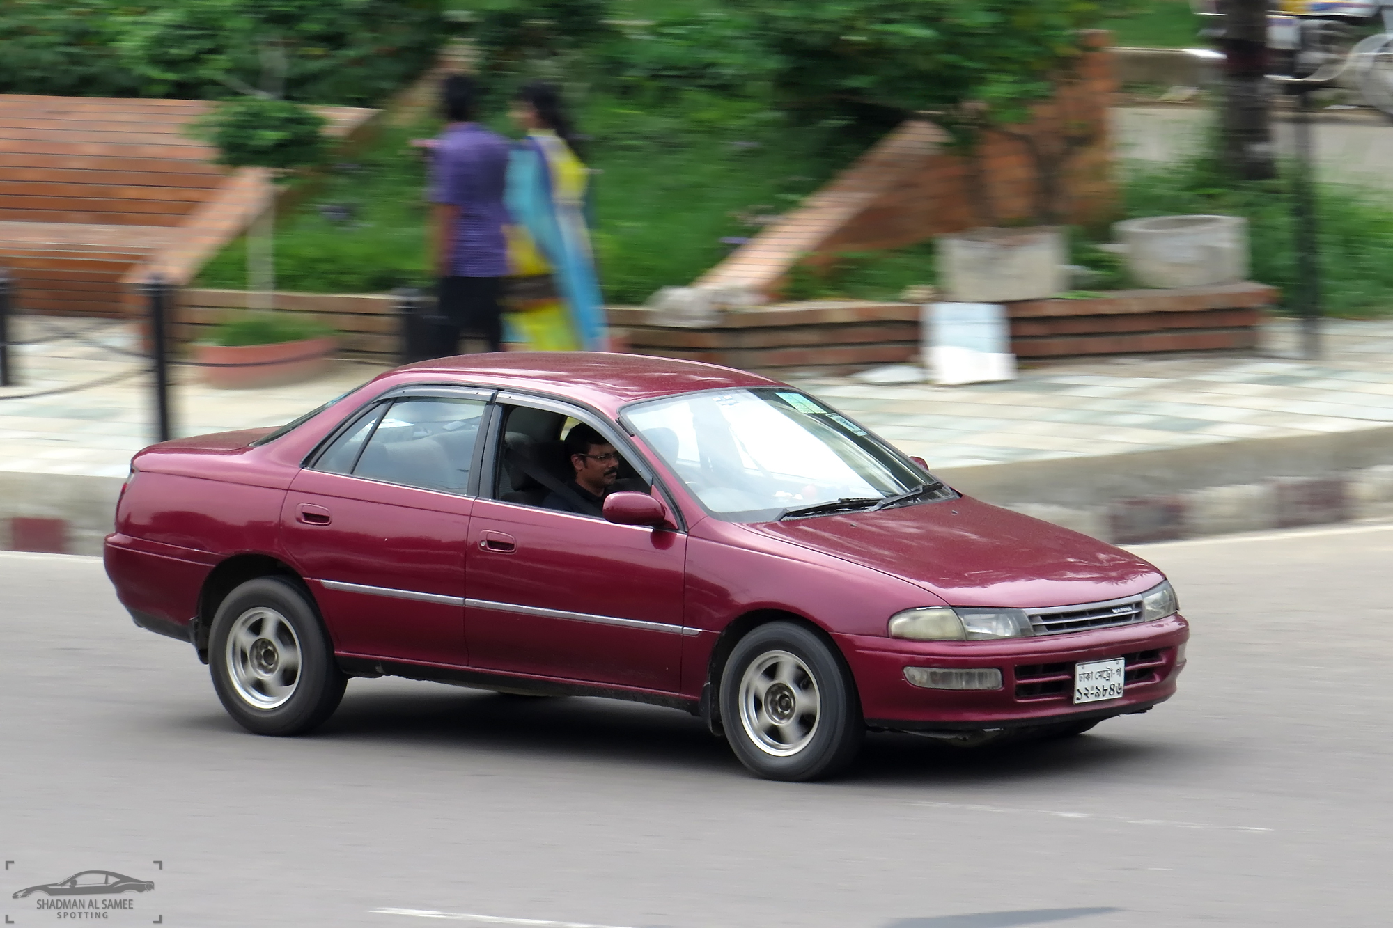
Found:
[[244, 96], [220, 103], [195, 127], [228, 167], [308, 167], [325, 159], [325, 117], [290, 100]]

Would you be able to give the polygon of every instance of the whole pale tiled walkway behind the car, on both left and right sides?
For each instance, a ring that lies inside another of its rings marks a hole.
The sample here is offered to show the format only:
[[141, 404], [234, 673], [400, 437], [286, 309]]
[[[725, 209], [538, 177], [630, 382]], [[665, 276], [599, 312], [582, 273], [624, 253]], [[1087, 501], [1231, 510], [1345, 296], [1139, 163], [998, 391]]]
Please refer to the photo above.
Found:
[[[1234, 439], [1393, 424], [1393, 322], [1332, 320], [1319, 362], [1293, 354], [1295, 329], [1270, 323], [1263, 355], [1055, 362], [1009, 383], [871, 386], [798, 383], [935, 467], [1119, 454]], [[123, 477], [153, 435], [134, 332], [96, 320], [29, 322], [22, 382], [0, 389], [0, 470]], [[213, 390], [178, 369], [181, 435], [279, 425], [373, 376], [340, 362], [315, 382]], [[113, 382], [103, 383], [111, 379]], [[96, 382], [84, 390], [28, 394]]]

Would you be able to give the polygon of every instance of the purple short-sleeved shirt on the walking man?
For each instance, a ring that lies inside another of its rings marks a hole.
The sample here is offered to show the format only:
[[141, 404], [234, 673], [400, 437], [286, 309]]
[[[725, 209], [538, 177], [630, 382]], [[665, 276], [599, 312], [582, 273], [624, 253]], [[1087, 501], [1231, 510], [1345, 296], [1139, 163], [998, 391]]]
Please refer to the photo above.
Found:
[[503, 194], [511, 148], [497, 132], [461, 123], [440, 135], [430, 159], [430, 202], [460, 208], [449, 273], [456, 277], [503, 277], [508, 222]]

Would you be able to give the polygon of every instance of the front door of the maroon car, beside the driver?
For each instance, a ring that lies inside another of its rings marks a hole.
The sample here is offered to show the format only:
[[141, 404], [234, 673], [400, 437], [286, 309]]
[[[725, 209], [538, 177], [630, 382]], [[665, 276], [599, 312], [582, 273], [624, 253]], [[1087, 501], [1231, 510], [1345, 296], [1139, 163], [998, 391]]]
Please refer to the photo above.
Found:
[[559, 431], [508, 432], [510, 422], [524, 418], [517, 410], [550, 412], [557, 429], [567, 417], [588, 422], [651, 482], [648, 465], [593, 414], [536, 397], [504, 394], [499, 403], [490, 492], [481, 490], [475, 503], [465, 556], [471, 663], [510, 674], [676, 691], [687, 535], [500, 499], [520, 496], [507, 493], [510, 439], [514, 446], [524, 439], [545, 446], [560, 438]]

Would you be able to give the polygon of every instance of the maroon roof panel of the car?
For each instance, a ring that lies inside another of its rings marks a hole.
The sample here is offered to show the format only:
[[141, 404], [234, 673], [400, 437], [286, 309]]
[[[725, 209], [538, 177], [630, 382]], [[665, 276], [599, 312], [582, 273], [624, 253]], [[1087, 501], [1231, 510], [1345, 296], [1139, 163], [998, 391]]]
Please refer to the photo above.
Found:
[[401, 383], [422, 379], [458, 380], [501, 389], [543, 390], [609, 410], [677, 393], [779, 383], [758, 373], [715, 364], [607, 351], [464, 354], [408, 364], [378, 378], [384, 379], [400, 379]]

